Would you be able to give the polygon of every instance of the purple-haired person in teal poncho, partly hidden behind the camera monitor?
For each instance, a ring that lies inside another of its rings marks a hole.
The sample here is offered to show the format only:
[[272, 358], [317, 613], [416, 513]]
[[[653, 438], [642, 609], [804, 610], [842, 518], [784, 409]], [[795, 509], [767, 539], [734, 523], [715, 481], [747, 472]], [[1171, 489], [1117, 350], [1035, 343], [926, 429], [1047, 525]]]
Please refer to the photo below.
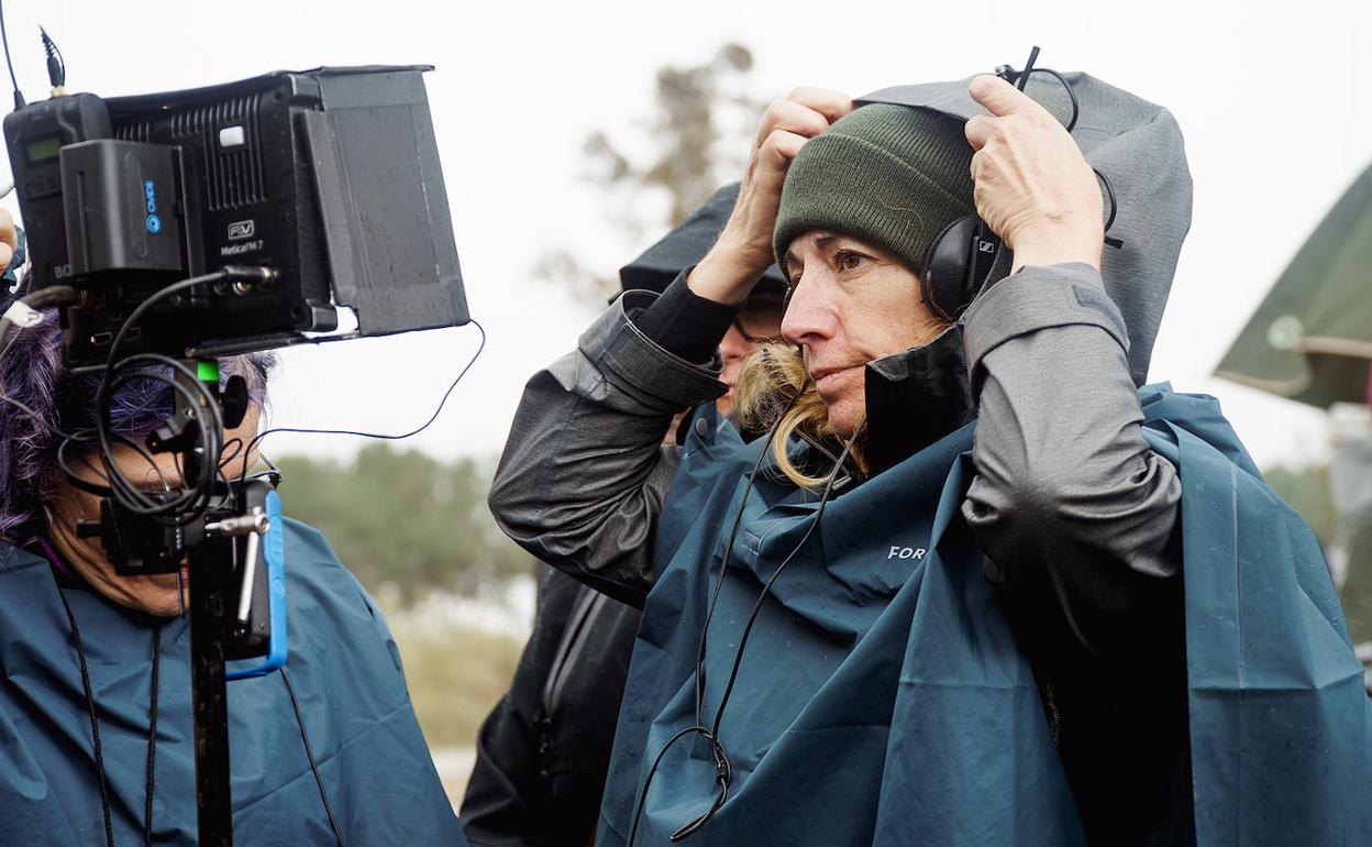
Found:
[[[0, 261], [15, 235], [0, 210]], [[0, 312], [23, 292], [22, 281], [3, 292]], [[119, 577], [97, 538], [77, 535], [99, 498], [63, 471], [60, 432], [93, 426], [100, 376], [66, 371], [56, 316], [0, 350], [0, 847], [195, 843], [182, 614], [195, 574]], [[248, 412], [224, 434], [233, 468], [257, 459], [243, 453], [272, 365], [262, 353], [220, 360], [248, 384]], [[110, 420], [141, 443], [172, 410], [165, 383], [133, 380]], [[73, 446], [71, 471], [102, 482], [93, 450]], [[114, 460], [152, 490], [180, 485], [170, 454], [118, 445]], [[465, 844], [380, 611], [324, 538], [289, 519], [285, 563], [289, 658], [228, 688], [239, 843]]]

